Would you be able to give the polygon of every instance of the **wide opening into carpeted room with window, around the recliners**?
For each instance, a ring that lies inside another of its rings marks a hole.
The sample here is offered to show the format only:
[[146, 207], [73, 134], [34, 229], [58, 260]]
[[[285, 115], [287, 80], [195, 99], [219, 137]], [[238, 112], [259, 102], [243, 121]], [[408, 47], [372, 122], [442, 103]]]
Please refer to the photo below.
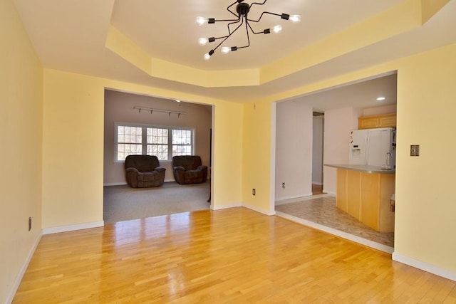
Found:
[[[190, 154], [199, 155], [202, 164], [210, 168], [212, 112], [212, 105], [105, 90], [103, 161], [103, 219], [105, 222], [111, 223], [210, 208], [210, 201], [207, 200], [211, 177], [208, 176], [207, 182], [202, 184], [177, 184], [173, 177], [171, 159], [175, 147], [180, 148], [177, 147], [179, 143], [180, 146], [191, 145]], [[128, 125], [138, 129], [141, 135], [135, 133], [138, 136], [133, 142], [128, 142], [128, 145], [116, 144], [118, 136], [116, 130], [119, 125]], [[152, 144], [148, 143], [149, 137], [146, 139], [145, 136], [147, 133], [145, 130], [151, 128], [165, 130], [168, 135], [167, 142], [159, 142], [167, 149], [160, 150], [161, 154], [157, 155], [160, 167], [166, 169], [165, 183], [160, 187], [128, 187], [125, 180], [123, 162], [125, 155], [123, 154], [127, 154], [127, 152], [128, 154], [145, 154], [150, 147], [153, 148]], [[177, 130], [176, 134], [175, 130]], [[180, 139], [184, 134], [179, 130], [186, 130], [185, 134], [191, 132], [191, 139], [186, 137], [185, 142], [174, 143], [174, 136]], [[172, 140], [170, 140], [170, 136], [172, 136]], [[138, 140], [140, 141], [138, 142]], [[187, 140], [190, 142], [187, 143]], [[125, 146], [128, 146], [128, 150], [125, 150], [127, 148]], [[130, 146], [134, 146], [135, 150], [131, 150]], [[138, 151], [138, 147], [140, 147], [140, 151]], [[123, 154], [116, 153], [120, 148], [124, 151]], [[163, 151], [169, 151], [169, 153], [165, 154]]]

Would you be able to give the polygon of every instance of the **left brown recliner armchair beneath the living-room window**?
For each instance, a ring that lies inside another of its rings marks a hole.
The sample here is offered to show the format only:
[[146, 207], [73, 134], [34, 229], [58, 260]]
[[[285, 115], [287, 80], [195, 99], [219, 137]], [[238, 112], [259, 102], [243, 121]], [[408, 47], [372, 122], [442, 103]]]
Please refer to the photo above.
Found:
[[133, 188], [159, 187], [165, 182], [164, 167], [152, 155], [128, 155], [125, 158], [127, 184]]

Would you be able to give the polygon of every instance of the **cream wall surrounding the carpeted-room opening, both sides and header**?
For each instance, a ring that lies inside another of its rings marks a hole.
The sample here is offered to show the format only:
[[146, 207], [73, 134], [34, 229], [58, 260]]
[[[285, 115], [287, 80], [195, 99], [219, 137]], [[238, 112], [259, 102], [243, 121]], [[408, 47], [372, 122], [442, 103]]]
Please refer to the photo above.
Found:
[[103, 221], [105, 88], [213, 104], [212, 208], [242, 201], [242, 105], [103, 78], [45, 70], [43, 227]]

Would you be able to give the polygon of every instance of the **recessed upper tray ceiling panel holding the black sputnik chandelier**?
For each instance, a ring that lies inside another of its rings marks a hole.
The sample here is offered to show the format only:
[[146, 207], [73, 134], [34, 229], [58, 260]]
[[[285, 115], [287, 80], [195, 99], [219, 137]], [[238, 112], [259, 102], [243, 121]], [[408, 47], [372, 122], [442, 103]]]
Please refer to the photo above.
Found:
[[[266, 15], [255, 29], [261, 31], [281, 24], [284, 27], [281, 34], [250, 35], [251, 46], [248, 51], [239, 50], [228, 56], [217, 51], [209, 62], [203, 60], [203, 54], [207, 53], [212, 46], [199, 46], [197, 39], [226, 36], [227, 23], [198, 26], [195, 22], [196, 17], [233, 19], [234, 16], [227, 11], [227, 6], [235, 2], [233, 0], [116, 0], [111, 23], [152, 56], [166, 61], [202, 70], [259, 68], [336, 33], [341, 28], [347, 28], [380, 11], [385, 11], [400, 1], [269, 0], [264, 6], [252, 6], [249, 19], [258, 19], [262, 11], [271, 11], [279, 14], [299, 14], [302, 21], [290, 23], [277, 16]], [[252, 2], [254, 1], [245, 1], [245, 3]], [[329, 20], [331, 22], [328, 22]], [[254, 25], [256, 24], [253, 23], [252, 26]], [[242, 33], [245, 33], [245, 30]], [[244, 42], [245, 40], [242, 39], [239, 45]], [[228, 45], [232, 46], [230, 43]]]

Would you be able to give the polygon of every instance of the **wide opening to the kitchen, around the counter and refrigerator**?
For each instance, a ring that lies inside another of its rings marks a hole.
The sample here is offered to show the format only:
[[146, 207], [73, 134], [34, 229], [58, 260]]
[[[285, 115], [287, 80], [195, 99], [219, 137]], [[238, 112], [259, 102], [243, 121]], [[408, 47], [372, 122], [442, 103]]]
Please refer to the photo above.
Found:
[[[376, 98], [380, 94], [387, 97], [387, 103], [378, 103]], [[339, 214], [340, 210], [336, 208], [336, 172], [325, 167], [324, 163], [347, 164], [348, 135], [358, 128], [358, 117], [395, 112], [396, 95], [397, 74], [393, 71], [277, 103], [274, 126], [276, 214], [381, 251], [392, 252], [393, 234], [380, 235], [375, 231], [371, 234], [371, 231], [356, 226], [359, 224], [357, 220], [351, 221], [343, 217], [346, 214]], [[296, 140], [301, 142], [294, 142]], [[296, 153], [296, 150], [299, 152]], [[306, 153], [307, 150], [311, 150], [312, 154]], [[320, 158], [323, 154], [324, 158]], [[291, 166], [286, 167], [286, 164]], [[285, 173], [284, 168], [288, 169]], [[298, 176], [292, 170], [308, 170], [311, 177], [306, 179], [306, 174]], [[281, 195], [285, 192], [280, 189], [281, 179], [287, 177], [301, 177], [301, 184], [296, 192]], [[321, 193], [323, 187], [324, 194]], [[307, 189], [310, 188], [309, 193]], [[309, 194], [303, 195], [306, 193]]]

